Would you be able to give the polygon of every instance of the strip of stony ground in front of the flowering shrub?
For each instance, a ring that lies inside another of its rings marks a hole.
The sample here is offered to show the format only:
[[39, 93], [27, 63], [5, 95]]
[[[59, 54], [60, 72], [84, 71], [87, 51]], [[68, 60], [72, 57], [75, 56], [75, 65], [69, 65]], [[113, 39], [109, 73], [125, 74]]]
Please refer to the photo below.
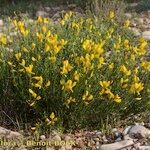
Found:
[[109, 135], [101, 131], [76, 131], [40, 135], [36, 141], [29, 136], [0, 127], [0, 150], [149, 150], [150, 123], [125, 129], [112, 129]]

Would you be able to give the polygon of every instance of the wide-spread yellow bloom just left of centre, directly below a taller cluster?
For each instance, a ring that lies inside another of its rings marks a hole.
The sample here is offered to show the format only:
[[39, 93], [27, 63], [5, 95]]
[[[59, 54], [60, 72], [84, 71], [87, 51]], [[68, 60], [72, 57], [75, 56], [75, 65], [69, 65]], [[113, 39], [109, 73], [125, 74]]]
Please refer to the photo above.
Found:
[[72, 82], [72, 80], [67, 80], [67, 82], [61, 80], [60, 84], [63, 85], [62, 90], [73, 92], [73, 87], [76, 85], [76, 82]]

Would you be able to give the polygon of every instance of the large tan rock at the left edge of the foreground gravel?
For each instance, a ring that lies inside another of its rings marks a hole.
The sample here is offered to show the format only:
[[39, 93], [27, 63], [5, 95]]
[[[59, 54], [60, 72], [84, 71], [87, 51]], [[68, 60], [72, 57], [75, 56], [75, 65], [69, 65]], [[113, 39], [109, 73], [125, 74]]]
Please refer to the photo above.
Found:
[[3, 127], [0, 127], [0, 137], [5, 137], [7, 139], [15, 139], [15, 138], [22, 138], [22, 134], [18, 132], [14, 132]]

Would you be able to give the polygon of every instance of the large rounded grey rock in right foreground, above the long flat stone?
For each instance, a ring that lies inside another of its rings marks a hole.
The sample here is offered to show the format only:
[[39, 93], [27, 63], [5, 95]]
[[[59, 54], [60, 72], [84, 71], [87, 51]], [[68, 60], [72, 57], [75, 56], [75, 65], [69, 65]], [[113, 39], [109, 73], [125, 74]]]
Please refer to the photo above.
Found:
[[135, 125], [129, 130], [131, 138], [145, 138], [150, 136], [150, 130], [141, 125]]

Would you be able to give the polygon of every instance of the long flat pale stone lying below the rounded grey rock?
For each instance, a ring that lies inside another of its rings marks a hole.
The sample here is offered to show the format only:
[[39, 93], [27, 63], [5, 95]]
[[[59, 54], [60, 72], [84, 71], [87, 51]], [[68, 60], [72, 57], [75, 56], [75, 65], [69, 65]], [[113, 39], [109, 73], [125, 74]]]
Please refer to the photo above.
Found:
[[131, 146], [133, 144], [134, 144], [133, 140], [124, 140], [124, 141], [120, 141], [120, 142], [116, 142], [112, 144], [103, 144], [101, 145], [100, 149], [101, 150], [117, 150], [117, 149], [125, 148], [127, 146]]

